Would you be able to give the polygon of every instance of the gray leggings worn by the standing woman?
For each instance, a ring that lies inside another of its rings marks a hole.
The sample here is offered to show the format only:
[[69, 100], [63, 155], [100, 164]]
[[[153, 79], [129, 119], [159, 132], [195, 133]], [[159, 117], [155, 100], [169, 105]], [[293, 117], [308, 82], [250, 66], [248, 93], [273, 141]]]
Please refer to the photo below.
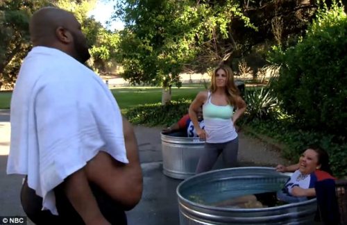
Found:
[[225, 143], [205, 143], [203, 153], [198, 160], [196, 174], [207, 172], [212, 169], [218, 156], [223, 151], [225, 167], [235, 167], [237, 163], [237, 151], [239, 150], [239, 138]]

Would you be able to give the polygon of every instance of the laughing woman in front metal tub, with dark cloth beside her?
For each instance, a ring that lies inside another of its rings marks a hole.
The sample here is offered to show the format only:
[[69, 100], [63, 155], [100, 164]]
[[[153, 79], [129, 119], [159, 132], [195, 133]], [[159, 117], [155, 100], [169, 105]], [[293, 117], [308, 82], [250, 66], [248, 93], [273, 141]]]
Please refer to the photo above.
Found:
[[320, 147], [309, 147], [295, 165], [278, 165], [278, 172], [294, 172], [282, 190], [280, 201], [295, 203], [316, 197], [316, 220], [325, 224], [339, 223], [339, 206], [335, 192], [335, 178], [331, 175], [329, 156]]

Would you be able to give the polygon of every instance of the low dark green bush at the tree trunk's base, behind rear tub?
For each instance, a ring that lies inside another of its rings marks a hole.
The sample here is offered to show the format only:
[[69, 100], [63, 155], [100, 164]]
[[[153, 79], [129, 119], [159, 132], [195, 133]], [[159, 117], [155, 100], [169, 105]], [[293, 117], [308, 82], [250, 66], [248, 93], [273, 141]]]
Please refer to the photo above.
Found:
[[132, 124], [169, 126], [188, 113], [190, 103], [190, 100], [180, 99], [165, 106], [160, 103], [145, 104], [130, 108], [125, 116]]

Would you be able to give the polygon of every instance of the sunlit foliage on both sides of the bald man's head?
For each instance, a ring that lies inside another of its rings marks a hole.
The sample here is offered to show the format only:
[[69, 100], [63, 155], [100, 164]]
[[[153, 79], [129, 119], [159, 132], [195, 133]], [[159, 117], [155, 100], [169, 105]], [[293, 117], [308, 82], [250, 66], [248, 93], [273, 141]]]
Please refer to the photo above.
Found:
[[30, 17], [43, 6], [57, 6], [74, 13], [92, 47], [90, 66], [96, 70], [105, 69], [117, 53], [119, 35], [103, 28], [93, 17], [87, 17], [95, 4], [96, 0], [0, 1], [0, 86], [15, 83], [22, 60], [32, 47], [28, 32]]

